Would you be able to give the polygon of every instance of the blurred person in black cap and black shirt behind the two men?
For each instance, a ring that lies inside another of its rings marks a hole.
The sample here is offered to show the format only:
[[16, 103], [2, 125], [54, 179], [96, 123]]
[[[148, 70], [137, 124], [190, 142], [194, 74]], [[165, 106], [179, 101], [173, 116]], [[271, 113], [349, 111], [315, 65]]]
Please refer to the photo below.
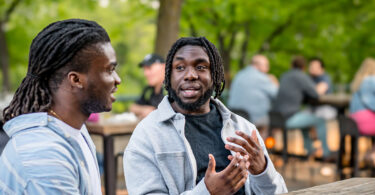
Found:
[[148, 86], [143, 89], [141, 97], [130, 106], [130, 112], [142, 119], [158, 107], [165, 95], [163, 90], [165, 61], [157, 54], [148, 54], [139, 66], [143, 68]]

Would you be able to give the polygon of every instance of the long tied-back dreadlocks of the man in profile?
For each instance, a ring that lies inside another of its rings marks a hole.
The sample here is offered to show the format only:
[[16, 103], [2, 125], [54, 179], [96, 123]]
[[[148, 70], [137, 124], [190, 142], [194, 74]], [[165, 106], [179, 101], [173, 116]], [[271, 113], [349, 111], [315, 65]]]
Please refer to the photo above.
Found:
[[94, 21], [69, 19], [45, 27], [31, 43], [27, 75], [3, 111], [4, 123], [21, 114], [48, 111], [52, 92], [64, 76], [70, 71], [86, 73], [87, 54], [102, 42], [110, 42], [109, 36]]

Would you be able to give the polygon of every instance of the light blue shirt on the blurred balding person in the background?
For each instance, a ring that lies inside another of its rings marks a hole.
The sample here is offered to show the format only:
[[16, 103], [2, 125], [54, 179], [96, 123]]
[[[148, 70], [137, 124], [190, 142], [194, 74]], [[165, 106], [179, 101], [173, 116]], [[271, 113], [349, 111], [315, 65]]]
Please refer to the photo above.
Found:
[[241, 70], [234, 78], [229, 91], [228, 107], [243, 109], [250, 114], [252, 122], [267, 117], [277, 87], [263, 72], [253, 66]]

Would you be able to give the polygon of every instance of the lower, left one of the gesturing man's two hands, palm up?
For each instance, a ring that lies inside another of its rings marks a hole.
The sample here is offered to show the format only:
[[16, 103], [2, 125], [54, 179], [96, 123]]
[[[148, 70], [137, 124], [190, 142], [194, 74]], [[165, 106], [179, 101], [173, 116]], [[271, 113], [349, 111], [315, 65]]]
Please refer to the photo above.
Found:
[[208, 155], [210, 159], [204, 178], [204, 183], [212, 195], [234, 194], [246, 182], [247, 169], [245, 159], [241, 159], [240, 154], [236, 154], [231, 159], [229, 165], [221, 172], [216, 172], [216, 161], [212, 154]]

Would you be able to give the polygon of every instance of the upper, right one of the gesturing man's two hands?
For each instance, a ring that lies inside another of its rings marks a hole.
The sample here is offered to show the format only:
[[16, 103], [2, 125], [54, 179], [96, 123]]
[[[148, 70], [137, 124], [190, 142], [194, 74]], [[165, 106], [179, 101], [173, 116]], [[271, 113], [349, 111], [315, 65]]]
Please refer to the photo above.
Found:
[[[240, 153], [246, 159], [246, 167], [253, 175], [258, 175], [266, 169], [266, 158], [262, 147], [259, 144], [256, 132], [253, 131], [251, 136], [245, 134], [242, 131], [236, 131], [236, 134], [241, 136], [243, 139], [228, 137], [227, 140], [241, 147], [234, 145], [225, 144], [227, 150]], [[229, 156], [229, 160], [233, 159]]]

